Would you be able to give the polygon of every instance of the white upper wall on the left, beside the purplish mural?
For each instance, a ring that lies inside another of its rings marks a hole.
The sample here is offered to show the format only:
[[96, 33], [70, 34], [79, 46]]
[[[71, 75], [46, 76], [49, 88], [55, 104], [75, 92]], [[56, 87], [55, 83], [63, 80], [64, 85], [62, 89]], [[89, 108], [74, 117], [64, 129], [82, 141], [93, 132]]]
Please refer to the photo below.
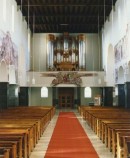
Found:
[[19, 83], [24, 86], [26, 85], [26, 71], [30, 69], [30, 52], [28, 51], [28, 32], [30, 31], [27, 29], [27, 23], [17, 8], [15, 0], [0, 0], [0, 17], [0, 31], [10, 32], [11, 39], [18, 48]]

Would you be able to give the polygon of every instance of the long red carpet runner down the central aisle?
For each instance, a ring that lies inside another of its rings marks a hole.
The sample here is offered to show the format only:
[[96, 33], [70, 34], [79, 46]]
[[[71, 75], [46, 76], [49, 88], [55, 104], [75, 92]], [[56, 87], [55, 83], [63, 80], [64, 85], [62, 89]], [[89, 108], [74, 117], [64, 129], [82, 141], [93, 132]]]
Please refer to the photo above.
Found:
[[98, 158], [73, 112], [61, 112], [45, 158]]

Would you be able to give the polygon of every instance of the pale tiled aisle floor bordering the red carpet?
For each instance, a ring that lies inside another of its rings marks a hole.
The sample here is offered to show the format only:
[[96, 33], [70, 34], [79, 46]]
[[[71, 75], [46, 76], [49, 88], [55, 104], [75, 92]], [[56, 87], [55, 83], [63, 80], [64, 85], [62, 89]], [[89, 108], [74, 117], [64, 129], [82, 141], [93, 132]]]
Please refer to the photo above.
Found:
[[75, 112], [78, 120], [80, 121], [82, 127], [84, 128], [85, 132], [87, 133], [88, 137], [90, 138], [95, 150], [97, 151], [99, 158], [113, 158], [113, 155], [109, 150], [105, 147], [105, 145], [99, 140], [99, 138], [95, 135], [95, 133], [91, 130], [91, 128], [87, 125], [87, 123], [80, 117], [77, 110], [68, 110], [68, 109], [61, 109], [56, 110], [56, 114], [47, 126], [46, 130], [44, 131], [41, 139], [39, 140], [38, 144], [34, 148], [33, 152], [31, 153], [30, 158], [44, 158], [46, 153], [49, 141], [51, 139], [58, 114], [60, 111], [73, 111]]

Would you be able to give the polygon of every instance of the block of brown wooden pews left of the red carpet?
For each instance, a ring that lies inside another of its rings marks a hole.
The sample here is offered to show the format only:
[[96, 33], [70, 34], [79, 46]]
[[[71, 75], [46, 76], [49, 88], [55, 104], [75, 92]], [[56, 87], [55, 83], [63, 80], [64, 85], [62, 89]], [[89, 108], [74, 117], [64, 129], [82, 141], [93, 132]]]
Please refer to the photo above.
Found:
[[55, 114], [53, 106], [13, 107], [0, 112], [0, 158], [29, 158]]

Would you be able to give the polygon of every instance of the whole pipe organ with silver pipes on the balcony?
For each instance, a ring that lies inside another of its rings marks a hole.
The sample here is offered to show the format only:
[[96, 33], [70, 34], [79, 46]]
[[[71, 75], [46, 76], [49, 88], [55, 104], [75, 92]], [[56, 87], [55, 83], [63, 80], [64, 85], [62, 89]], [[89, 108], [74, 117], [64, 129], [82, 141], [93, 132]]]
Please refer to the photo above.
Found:
[[48, 35], [47, 68], [50, 71], [85, 70], [85, 37], [68, 33]]

